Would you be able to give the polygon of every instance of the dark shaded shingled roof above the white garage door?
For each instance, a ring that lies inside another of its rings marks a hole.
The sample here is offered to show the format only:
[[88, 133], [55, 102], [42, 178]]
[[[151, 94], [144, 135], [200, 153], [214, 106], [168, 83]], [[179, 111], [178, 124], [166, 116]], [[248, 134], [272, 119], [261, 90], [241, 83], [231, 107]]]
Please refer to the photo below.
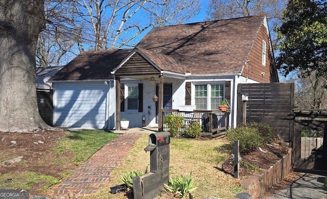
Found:
[[133, 49], [82, 52], [67, 63], [50, 81], [113, 78], [110, 73]]

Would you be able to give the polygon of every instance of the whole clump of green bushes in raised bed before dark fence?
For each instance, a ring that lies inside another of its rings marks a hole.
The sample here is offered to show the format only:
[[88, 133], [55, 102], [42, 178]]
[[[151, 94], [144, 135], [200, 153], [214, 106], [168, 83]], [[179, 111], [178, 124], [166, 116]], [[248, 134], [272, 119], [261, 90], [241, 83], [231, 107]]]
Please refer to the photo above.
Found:
[[276, 138], [275, 131], [267, 124], [250, 123], [247, 126], [228, 129], [226, 138], [232, 144], [240, 141], [240, 152], [248, 153], [272, 142]]

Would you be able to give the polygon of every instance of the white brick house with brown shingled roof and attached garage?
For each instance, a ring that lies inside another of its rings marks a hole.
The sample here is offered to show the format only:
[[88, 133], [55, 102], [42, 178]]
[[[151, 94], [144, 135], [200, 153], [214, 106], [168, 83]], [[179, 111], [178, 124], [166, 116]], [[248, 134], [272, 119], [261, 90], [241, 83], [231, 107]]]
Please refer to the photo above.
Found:
[[55, 126], [119, 129], [126, 118], [160, 128], [162, 109], [226, 99], [235, 127], [238, 84], [278, 76], [267, 19], [249, 16], [155, 27], [133, 49], [81, 53], [50, 81]]

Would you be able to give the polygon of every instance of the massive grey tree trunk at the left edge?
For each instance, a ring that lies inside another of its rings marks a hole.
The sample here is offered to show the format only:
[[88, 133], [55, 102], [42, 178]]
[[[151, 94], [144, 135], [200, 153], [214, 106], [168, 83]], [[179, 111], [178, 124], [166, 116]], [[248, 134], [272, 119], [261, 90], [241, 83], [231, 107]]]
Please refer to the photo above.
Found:
[[0, 131], [49, 127], [39, 115], [35, 85], [43, 25], [42, 0], [0, 0]]

